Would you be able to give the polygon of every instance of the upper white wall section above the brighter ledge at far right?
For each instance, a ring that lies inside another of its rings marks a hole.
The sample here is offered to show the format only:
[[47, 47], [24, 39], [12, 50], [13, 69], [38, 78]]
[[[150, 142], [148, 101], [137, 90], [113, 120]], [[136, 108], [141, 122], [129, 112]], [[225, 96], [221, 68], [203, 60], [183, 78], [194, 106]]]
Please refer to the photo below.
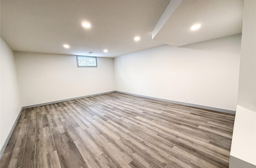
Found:
[[245, 0], [243, 12], [243, 30], [241, 60], [239, 72], [239, 89], [237, 104], [256, 107], [256, 11], [255, 0]]

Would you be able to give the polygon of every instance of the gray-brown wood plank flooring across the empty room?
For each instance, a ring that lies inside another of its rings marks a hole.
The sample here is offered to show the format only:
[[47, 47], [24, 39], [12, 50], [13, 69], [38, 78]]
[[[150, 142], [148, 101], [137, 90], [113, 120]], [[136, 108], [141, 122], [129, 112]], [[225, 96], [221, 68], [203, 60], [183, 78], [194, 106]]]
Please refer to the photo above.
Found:
[[24, 109], [1, 168], [229, 167], [235, 116], [109, 93]]

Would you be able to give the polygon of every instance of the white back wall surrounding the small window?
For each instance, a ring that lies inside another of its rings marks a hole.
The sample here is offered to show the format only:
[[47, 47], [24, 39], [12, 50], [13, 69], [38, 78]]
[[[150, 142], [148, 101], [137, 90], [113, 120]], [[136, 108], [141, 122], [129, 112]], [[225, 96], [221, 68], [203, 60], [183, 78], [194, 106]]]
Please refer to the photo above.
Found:
[[98, 57], [98, 67], [77, 67], [75, 55], [14, 55], [23, 107], [115, 90], [113, 58]]

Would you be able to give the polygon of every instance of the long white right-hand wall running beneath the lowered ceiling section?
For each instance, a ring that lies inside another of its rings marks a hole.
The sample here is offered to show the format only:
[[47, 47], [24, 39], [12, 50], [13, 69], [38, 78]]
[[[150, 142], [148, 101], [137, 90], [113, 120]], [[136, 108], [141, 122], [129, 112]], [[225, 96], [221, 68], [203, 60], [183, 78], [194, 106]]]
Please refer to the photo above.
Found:
[[123, 55], [114, 58], [116, 90], [236, 110], [240, 49], [238, 34]]

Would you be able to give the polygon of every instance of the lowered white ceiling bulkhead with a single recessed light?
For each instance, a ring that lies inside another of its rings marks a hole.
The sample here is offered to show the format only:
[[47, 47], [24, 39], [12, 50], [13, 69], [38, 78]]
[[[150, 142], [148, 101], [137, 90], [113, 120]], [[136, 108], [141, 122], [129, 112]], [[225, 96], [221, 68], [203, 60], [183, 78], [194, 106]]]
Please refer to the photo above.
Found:
[[[171, 0], [153, 30], [153, 39], [182, 46], [235, 35], [242, 33], [242, 19], [243, 0]], [[201, 28], [191, 31], [194, 24]]]

